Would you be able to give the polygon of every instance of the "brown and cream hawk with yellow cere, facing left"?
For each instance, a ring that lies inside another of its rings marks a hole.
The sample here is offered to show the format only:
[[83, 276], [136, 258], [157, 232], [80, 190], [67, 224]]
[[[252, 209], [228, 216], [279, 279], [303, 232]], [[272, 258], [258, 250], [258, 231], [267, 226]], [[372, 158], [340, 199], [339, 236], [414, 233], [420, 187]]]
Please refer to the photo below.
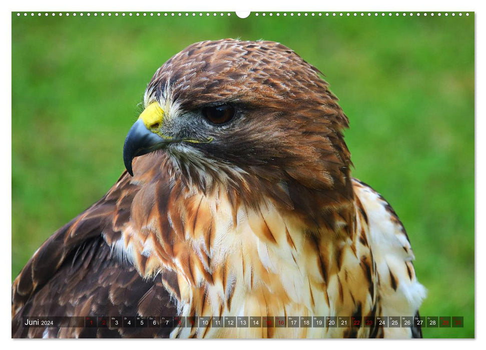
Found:
[[348, 118], [317, 68], [277, 42], [197, 42], [155, 72], [143, 103], [127, 171], [15, 279], [14, 337], [421, 336], [378, 322], [23, 327], [24, 316], [418, 315], [405, 229], [351, 177]]

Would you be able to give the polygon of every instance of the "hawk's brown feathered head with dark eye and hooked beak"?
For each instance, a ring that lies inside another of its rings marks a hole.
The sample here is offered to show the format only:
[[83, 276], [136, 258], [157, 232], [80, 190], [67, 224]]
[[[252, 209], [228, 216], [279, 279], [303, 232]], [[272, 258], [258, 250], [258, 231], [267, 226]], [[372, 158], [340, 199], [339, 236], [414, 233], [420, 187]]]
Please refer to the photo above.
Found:
[[133, 171], [133, 158], [151, 153], [161, 171], [171, 164], [204, 192], [218, 184], [242, 197], [270, 192], [290, 206], [302, 190], [352, 196], [348, 119], [319, 75], [277, 42], [194, 43], [152, 77], [125, 140], [125, 166], [137, 176], [146, 166], [135, 161]]

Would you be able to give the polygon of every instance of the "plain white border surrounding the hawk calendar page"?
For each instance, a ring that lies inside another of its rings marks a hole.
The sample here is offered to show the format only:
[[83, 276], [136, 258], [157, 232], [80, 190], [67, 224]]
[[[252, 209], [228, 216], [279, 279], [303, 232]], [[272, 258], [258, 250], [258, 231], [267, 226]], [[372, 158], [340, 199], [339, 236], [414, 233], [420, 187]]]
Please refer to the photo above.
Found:
[[[204, 5], [204, 6], [203, 6]], [[29, 341], [26, 340], [12, 340], [11, 339], [11, 274], [9, 273], [9, 268], [7, 266], [11, 266], [11, 234], [8, 234], [6, 231], [11, 231], [12, 229], [12, 221], [11, 221], [11, 209], [12, 209], [12, 202], [11, 202], [11, 175], [12, 175], [12, 159], [11, 159], [11, 119], [9, 115], [12, 112], [12, 71], [11, 71], [11, 40], [12, 40], [12, 32], [11, 32], [11, 25], [12, 25], [12, 17], [11, 11], [127, 11], [127, 10], [137, 10], [137, 11], [154, 11], [154, 10], [164, 10], [164, 11], [314, 11], [317, 12], [319, 10], [322, 11], [413, 11], [413, 12], [422, 12], [422, 11], [478, 11], [475, 13], [475, 21], [476, 21], [476, 47], [475, 47], [475, 57], [481, 58], [484, 57], [484, 42], [483, 37], [486, 34], [484, 30], [484, 16], [485, 12], [482, 12], [481, 8], [479, 7], [478, 1], [470, 1], [470, 0], [461, 0], [461, 1], [451, 1], [451, 0], [441, 0], [441, 1], [434, 1], [434, 2], [427, 2], [423, 0], [408, 0], [406, 2], [392, 2], [392, 1], [346, 1], [346, 2], [324, 2], [324, 1], [312, 1], [312, 0], [299, 0], [294, 2], [284, 2], [284, 1], [257, 1], [257, 0], [245, 0], [240, 2], [234, 1], [143, 1], [143, 2], [134, 2], [134, 1], [126, 1], [126, 0], [119, 0], [117, 2], [108, 2], [108, 1], [100, 1], [100, 0], [84, 0], [83, 2], [79, 3], [68, 3], [67, 1], [60, 1], [60, 0], [45, 0], [42, 1], [42, 4], [39, 1], [12, 1], [8, 4], [2, 4], [2, 19], [0, 20], [0, 25], [2, 26], [2, 37], [1, 47], [4, 48], [4, 54], [2, 54], [2, 90], [0, 95], [2, 96], [2, 109], [4, 113], [3, 118], [3, 127], [0, 129], [1, 137], [0, 139], [3, 142], [2, 149], [5, 153], [2, 154], [3, 158], [3, 169], [2, 169], [2, 181], [0, 183], [3, 184], [4, 188], [2, 192], [4, 196], [2, 198], [2, 221], [4, 222], [4, 242], [3, 242], [3, 251], [0, 255], [1, 263], [5, 266], [2, 269], [2, 288], [0, 289], [2, 294], [0, 300], [2, 300], [2, 327], [0, 328], [2, 331], [2, 338], [3, 339], [10, 339], [9, 345], [16, 346], [16, 347], [36, 347], [36, 348], [65, 348], [67, 346], [73, 349], [85, 349], [86, 346], [92, 346], [92, 343], [87, 344], [85, 341], [70, 341], [67, 343], [66, 341]], [[479, 93], [483, 91], [484, 86], [484, 70], [479, 65], [476, 65], [476, 96], [479, 96]], [[483, 199], [486, 197], [486, 187], [483, 184], [484, 182], [481, 181], [484, 175], [484, 154], [486, 154], [485, 148], [485, 139], [486, 133], [484, 132], [484, 119], [486, 116], [484, 115], [484, 98], [476, 99], [476, 115], [482, 116], [476, 118], [476, 187], [475, 187], [475, 198], [476, 198], [476, 212], [484, 213], [486, 212], [486, 207], [484, 205], [485, 200]], [[14, 116], [13, 116], [14, 117]], [[484, 244], [484, 232], [486, 232], [486, 224], [484, 215], [478, 215], [476, 221], [476, 232], [480, 233], [477, 234], [476, 238], [476, 268], [482, 271], [481, 274], [475, 273], [475, 287], [478, 288], [476, 290], [482, 291], [482, 293], [476, 293], [476, 295], [484, 294], [484, 254], [477, 254], [477, 252], [482, 251], [486, 248]], [[7, 225], [5, 224], [7, 223]], [[7, 229], [6, 229], [7, 228]], [[481, 300], [482, 298], [476, 299], [476, 310], [475, 315], [483, 314], [484, 310], [484, 302]], [[477, 316], [476, 316], [477, 319]], [[481, 326], [475, 322], [476, 327]], [[475, 341], [468, 341], [468, 340], [454, 340], [453, 343], [450, 343], [452, 346], [463, 346], [466, 345], [469, 348], [479, 347], [478, 344], [482, 343], [486, 335], [481, 334], [481, 332], [476, 332], [476, 340]], [[101, 341], [99, 342], [100, 346], [112, 346], [113, 340], [92, 340], [92, 341]], [[185, 347], [194, 347], [197, 346], [198, 349], [202, 348], [214, 348], [220, 346], [231, 346], [232, 348], [240, 349], [246, 348], [247, 346], [255, 346], [264, 345], [264, 346], [280, 346], [282, 349], [286, 349], [288, 347], [294, 346], [301, 346], [300, 341], [304, 340], [274, 340], [277, 341], [278, 344], [272, 342], [271, 344], [268, 342], [264, 342], [265, 340], [247, 340], [247, 341], [231, 341], [231, 340], [210, 340], [210, 341], [200, 341], [197, 343], [190, 343], [188, 341], [178, 340], [177, 342], [166, 342], [161, 344], [160, 342], [157, 344], [148, 343], [147, 339], [139, 339], [139, 340], [123, 340], [118, 341], [116, 346], [121, 348], [133, 348], [134, 346], [174, 346], [177, 348], [185, 348]], [[158, 341], [167, 341], [167, 340], [158, 340]], [[231, 341], [231, 343], [230, 343]], [[297, 343], [298, 341], [298, 343]], [[339, 348], [344, 347], [356, 347], [356, 346], [369, 346], [371, 343], [364, 344], [362, 342], [356, 343], [354, 341], [338, 341], [333, 343], [323, 343], [321, 341], [329, 341], [329, 340], [307, 340], [312, 341], [312, 343], [308, 343], [310, 346], [339, 346]], [[317, 342], [320, 341], [320, 342]], [[421, 342], [414, 341], [413, 345], [407, 341], [373, 341], [373, 347], [381, 347], [386, 346], [389, 348], [390, 346], [397, 348], [397, 349], [407, 349], [410, 346], [415, 347], [430, 347], [435, 344], [432, 344], [431, 341], [438, 341], [443, 345], [446, 345], [446, 341], [449, 340], [424, 340]], [[12, 343], [15, 342], [15, 343]], [[466, 343], [467, 342], [467, 343]], [[463, 344], [464, 343], [464, 344]], [[9, 346], [8, 345], [8, 346]], [[484, 346], [484, 344], [482, 345]]]

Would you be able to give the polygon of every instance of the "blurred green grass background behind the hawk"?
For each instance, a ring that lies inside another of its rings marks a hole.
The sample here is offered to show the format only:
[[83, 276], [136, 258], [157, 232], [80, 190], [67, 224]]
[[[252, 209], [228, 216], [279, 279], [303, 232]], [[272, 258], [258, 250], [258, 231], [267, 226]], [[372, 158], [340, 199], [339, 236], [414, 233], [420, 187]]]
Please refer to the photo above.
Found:
[[350, 119], [353, 175], [410, 237], [423, 316], [474, 336], [474, 18], [34, 17], [12, 14], [12, 278], [124, 170], [146, 84], [201, 40], [280, 41], [326, 74]]

